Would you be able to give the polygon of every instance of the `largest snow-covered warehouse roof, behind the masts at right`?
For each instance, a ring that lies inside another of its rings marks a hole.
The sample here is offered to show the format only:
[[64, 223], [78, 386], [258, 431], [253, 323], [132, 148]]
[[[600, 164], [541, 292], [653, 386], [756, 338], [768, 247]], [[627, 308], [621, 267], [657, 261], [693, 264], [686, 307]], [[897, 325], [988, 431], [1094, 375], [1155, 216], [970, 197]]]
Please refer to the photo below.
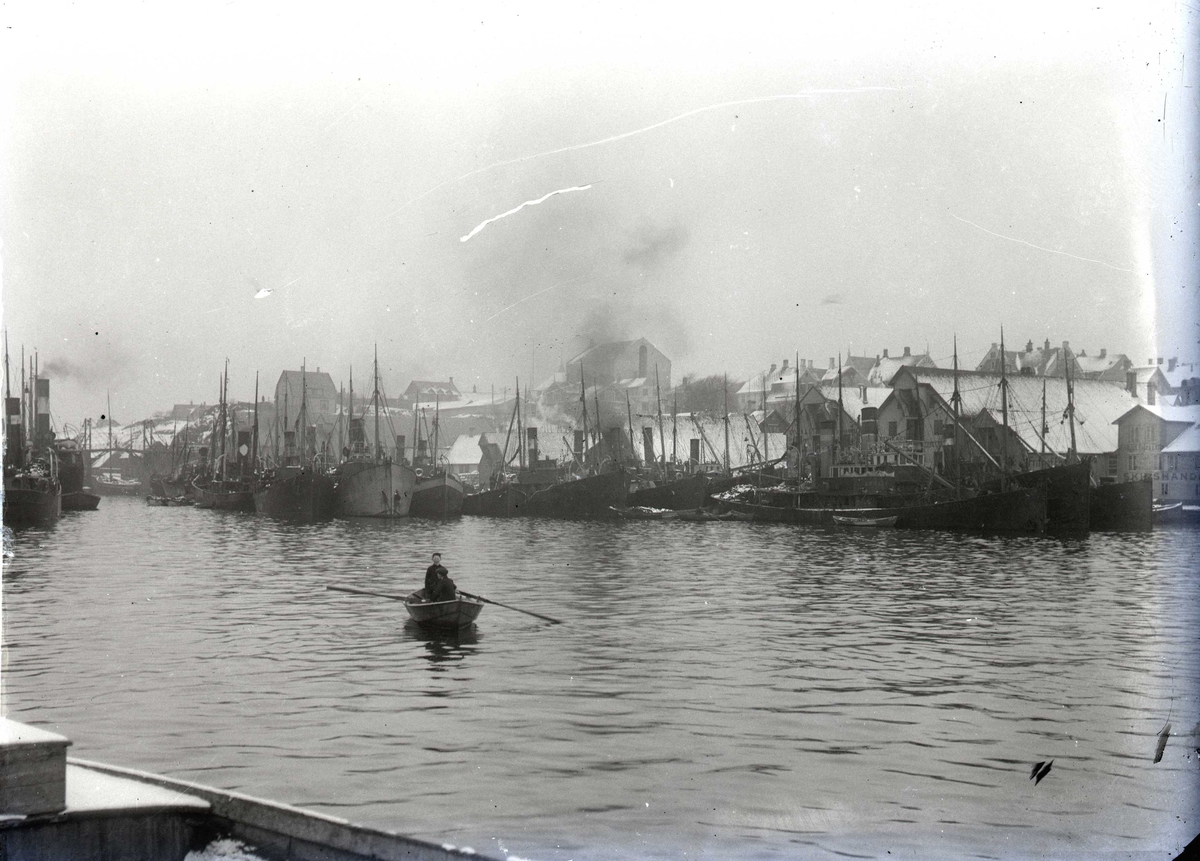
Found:
[[[905, 368], [919, 383], [928, 384], [944, 402], [950, 415], [950, 397], [954, 392], [954, 372], [948, 368]], [[1042, 391], [1046, 393], [1046, 445], [1060, 453], [1070, 450], [1070, 425], [1066, 417], [1067, 386], [1062, 378], [1026, 377], [1008, 378], [1008, 426], [1030, 451], [1039, 451], [1042, 440]], [[1138, 399], [1121, 386], [1100, 380], [1074, 380], [1075, 390], [1075, 450], [1080, 454], [1100, 454], [1117, 448], [1117, 432], [1114, 422], [1139, 404]], [[1002, 414], [1000, 374], [979, 371], [959, 371], [959, 395], [962, 398], [962, 415], [971, 417], [986, 410], [997, 421]]]

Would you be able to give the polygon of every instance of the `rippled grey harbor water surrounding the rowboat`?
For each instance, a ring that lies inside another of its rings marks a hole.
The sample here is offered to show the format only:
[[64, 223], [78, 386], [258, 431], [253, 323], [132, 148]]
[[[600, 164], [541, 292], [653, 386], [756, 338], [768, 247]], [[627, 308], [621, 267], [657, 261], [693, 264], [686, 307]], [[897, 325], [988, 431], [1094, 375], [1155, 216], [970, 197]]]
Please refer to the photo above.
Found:
[[[433, 550], [564, 624], [431, 634], [325, 589], [412, 591]], [[1200, 831], [1198, 550], [107, 498], [17, 535], [0, 685], [73, 755], [496, 856], [1169, 859]]]

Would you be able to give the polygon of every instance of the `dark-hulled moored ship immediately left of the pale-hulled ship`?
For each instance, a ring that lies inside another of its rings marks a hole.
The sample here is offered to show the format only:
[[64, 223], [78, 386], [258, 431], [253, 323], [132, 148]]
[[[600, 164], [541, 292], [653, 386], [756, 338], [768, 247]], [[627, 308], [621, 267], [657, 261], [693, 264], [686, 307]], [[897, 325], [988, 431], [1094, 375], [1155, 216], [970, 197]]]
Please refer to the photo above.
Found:
[[[284, 392], [286, 399], [286, 392]], [[287, 427], [287, 408], [283, 414]], [[296, 448], [296, 432], [283, 432], [283, 459], [269, 470], [254, 490], [254, 511], [288, 520], [312, 523], [328, 520], [334, 516], [334, 478], [319, 464], [316, 452], [316, 434], [308, 427], [308, 392], [306, 369], [300, 366], [300, 427], [302, 450]], [[253, 451], [258, 457], [258, 379], [254, 379]], [[253, 468], [253, 466], [252, 466]]]

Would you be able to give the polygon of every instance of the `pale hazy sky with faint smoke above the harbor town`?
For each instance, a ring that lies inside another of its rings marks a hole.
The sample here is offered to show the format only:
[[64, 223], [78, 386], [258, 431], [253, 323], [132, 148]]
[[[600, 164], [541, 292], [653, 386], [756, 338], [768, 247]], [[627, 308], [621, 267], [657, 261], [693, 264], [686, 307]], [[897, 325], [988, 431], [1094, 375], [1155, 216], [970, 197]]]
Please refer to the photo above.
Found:
[[1007, 343], [1200, 359], [1200, 5], [0, 7], [10, 361], [56, 423]]

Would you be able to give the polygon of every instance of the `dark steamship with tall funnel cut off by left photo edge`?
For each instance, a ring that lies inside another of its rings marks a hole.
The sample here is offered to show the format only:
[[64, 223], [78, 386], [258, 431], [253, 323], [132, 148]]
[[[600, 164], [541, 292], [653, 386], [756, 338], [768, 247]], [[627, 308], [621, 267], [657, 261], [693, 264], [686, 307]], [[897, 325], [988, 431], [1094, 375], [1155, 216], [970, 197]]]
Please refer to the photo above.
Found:
[[52, 445], [50, 381], [37, 375], [30, 360], [25, 386], [22, 351], [22, 396], [12, 397], [8, 385], [8, 338], [5, 336], [5, 416], [8, 422], [4, 451], [4, 522], [13, 528], [44, 526], [62, 513], [59, 458]]

